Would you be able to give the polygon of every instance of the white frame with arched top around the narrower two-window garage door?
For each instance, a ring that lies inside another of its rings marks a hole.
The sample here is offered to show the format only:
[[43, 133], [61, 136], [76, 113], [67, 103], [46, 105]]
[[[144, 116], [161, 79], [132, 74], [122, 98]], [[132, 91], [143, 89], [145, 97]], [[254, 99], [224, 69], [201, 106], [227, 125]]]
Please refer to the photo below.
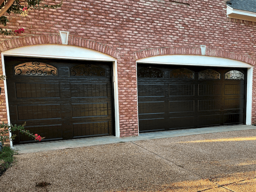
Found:
[[[37, 57], [37, 58], [54, 58], [54, 59], [70, 59], [70, 60], [95, 60], [95, 61], [111, 61], [113, 62], [113, 111], [114, 111], [114, 126], [115, 136], [120, 136], [119, 130], [119, 104], [118, 104], [118, 85], [117, 85], [117, 60], [107, 54], [94, 51], [92, 49], [81, 48], [76, 46], [66, 45], [35, 45], [24, 46], [16, 49], [10, 49], [1, 53], [3, 75], [6, 75], [4, 56], [12, 57]], [[10, 121], [9, 102], [7, 93], [6, 80], [4, 81], [7, 118]], [[10, 133], [11, 136], [11, 133]], [[10, 142], [13, 147], [12, 141]]]

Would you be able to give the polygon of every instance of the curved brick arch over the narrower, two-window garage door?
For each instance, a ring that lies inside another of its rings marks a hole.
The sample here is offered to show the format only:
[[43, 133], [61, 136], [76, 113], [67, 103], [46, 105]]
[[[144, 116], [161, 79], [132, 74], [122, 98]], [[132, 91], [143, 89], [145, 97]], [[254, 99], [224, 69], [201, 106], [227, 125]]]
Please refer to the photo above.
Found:
[[[43, 45], [43, 44], [60, 44], [61, 36], [60, 35], [35, 35], [35, 36], [25, 36], [12, 38], [0, 42], [0, 52], [15, 49], [23, 46], [32, 46], [32, 45]], [[104, 54], [108, 54], [111, 57], [118, 58], [119, 52], [109, 46], [106, 46], [101, 43], [97, 43], [92, 40], [83, 39], [81, 37], [74, 37], [70, 35], [68, 37], [68, 44], [72, 46], [84, 47], [87, 49], [92, 49]]]

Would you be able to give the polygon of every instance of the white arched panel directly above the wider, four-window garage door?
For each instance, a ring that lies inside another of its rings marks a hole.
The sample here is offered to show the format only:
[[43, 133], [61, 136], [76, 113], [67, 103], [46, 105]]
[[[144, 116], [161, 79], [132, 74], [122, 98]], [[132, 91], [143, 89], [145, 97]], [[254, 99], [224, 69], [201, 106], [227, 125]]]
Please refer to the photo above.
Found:
[[202, 55], [160, 55], [146, 57], [137, 60], [137, 63], [155, 63], [167, 65], [187, 65], [187, 66], [221, 66], [221, 67], [241, 67], [251, 68], [252, 65], [238, 60], [226, 59], [222, 57], [211, 57]]

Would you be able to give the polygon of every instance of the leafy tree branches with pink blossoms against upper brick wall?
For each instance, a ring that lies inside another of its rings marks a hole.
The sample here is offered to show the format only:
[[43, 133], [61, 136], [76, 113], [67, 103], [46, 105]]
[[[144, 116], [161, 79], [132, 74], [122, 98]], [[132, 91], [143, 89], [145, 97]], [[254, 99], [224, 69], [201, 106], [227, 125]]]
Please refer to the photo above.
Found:
[[[6, 26], [9, 20], [6, 16], [4, 16], [4, 13], [17, 13], [20, 14], [23, 17], [26, 17], [29, 13], [30, 9], [45, 9], [45, 8], [51, 8], [56, 9], [61, 7], [63, 0], [61, 0], [61, 3], [56, 5], [46, 5], [42, 4], [43, 0], [0, 0], [0, 24], [3, 26]], [[55, 2], [55, 0], [53, 0]], [[0, 28], [0, 34], [4, 35], [14, 35], [14, 34], [20, 34], [23, 33], [25, 30], [23, 28], [15, 30], [15, 32], [12, 32], [12, 30], [2, 29]]]

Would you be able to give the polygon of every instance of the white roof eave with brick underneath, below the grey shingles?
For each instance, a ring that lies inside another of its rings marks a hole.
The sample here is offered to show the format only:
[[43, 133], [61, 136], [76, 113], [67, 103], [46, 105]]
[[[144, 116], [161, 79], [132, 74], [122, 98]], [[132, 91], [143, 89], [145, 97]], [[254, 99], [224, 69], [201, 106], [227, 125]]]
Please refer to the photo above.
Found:
[[251, 11], [233, 9], [228, 5], [227, 5], [227, 17], [234, 18], [234, 19], [247, 20], [247, 21], [256, 21], [256, 13]]

